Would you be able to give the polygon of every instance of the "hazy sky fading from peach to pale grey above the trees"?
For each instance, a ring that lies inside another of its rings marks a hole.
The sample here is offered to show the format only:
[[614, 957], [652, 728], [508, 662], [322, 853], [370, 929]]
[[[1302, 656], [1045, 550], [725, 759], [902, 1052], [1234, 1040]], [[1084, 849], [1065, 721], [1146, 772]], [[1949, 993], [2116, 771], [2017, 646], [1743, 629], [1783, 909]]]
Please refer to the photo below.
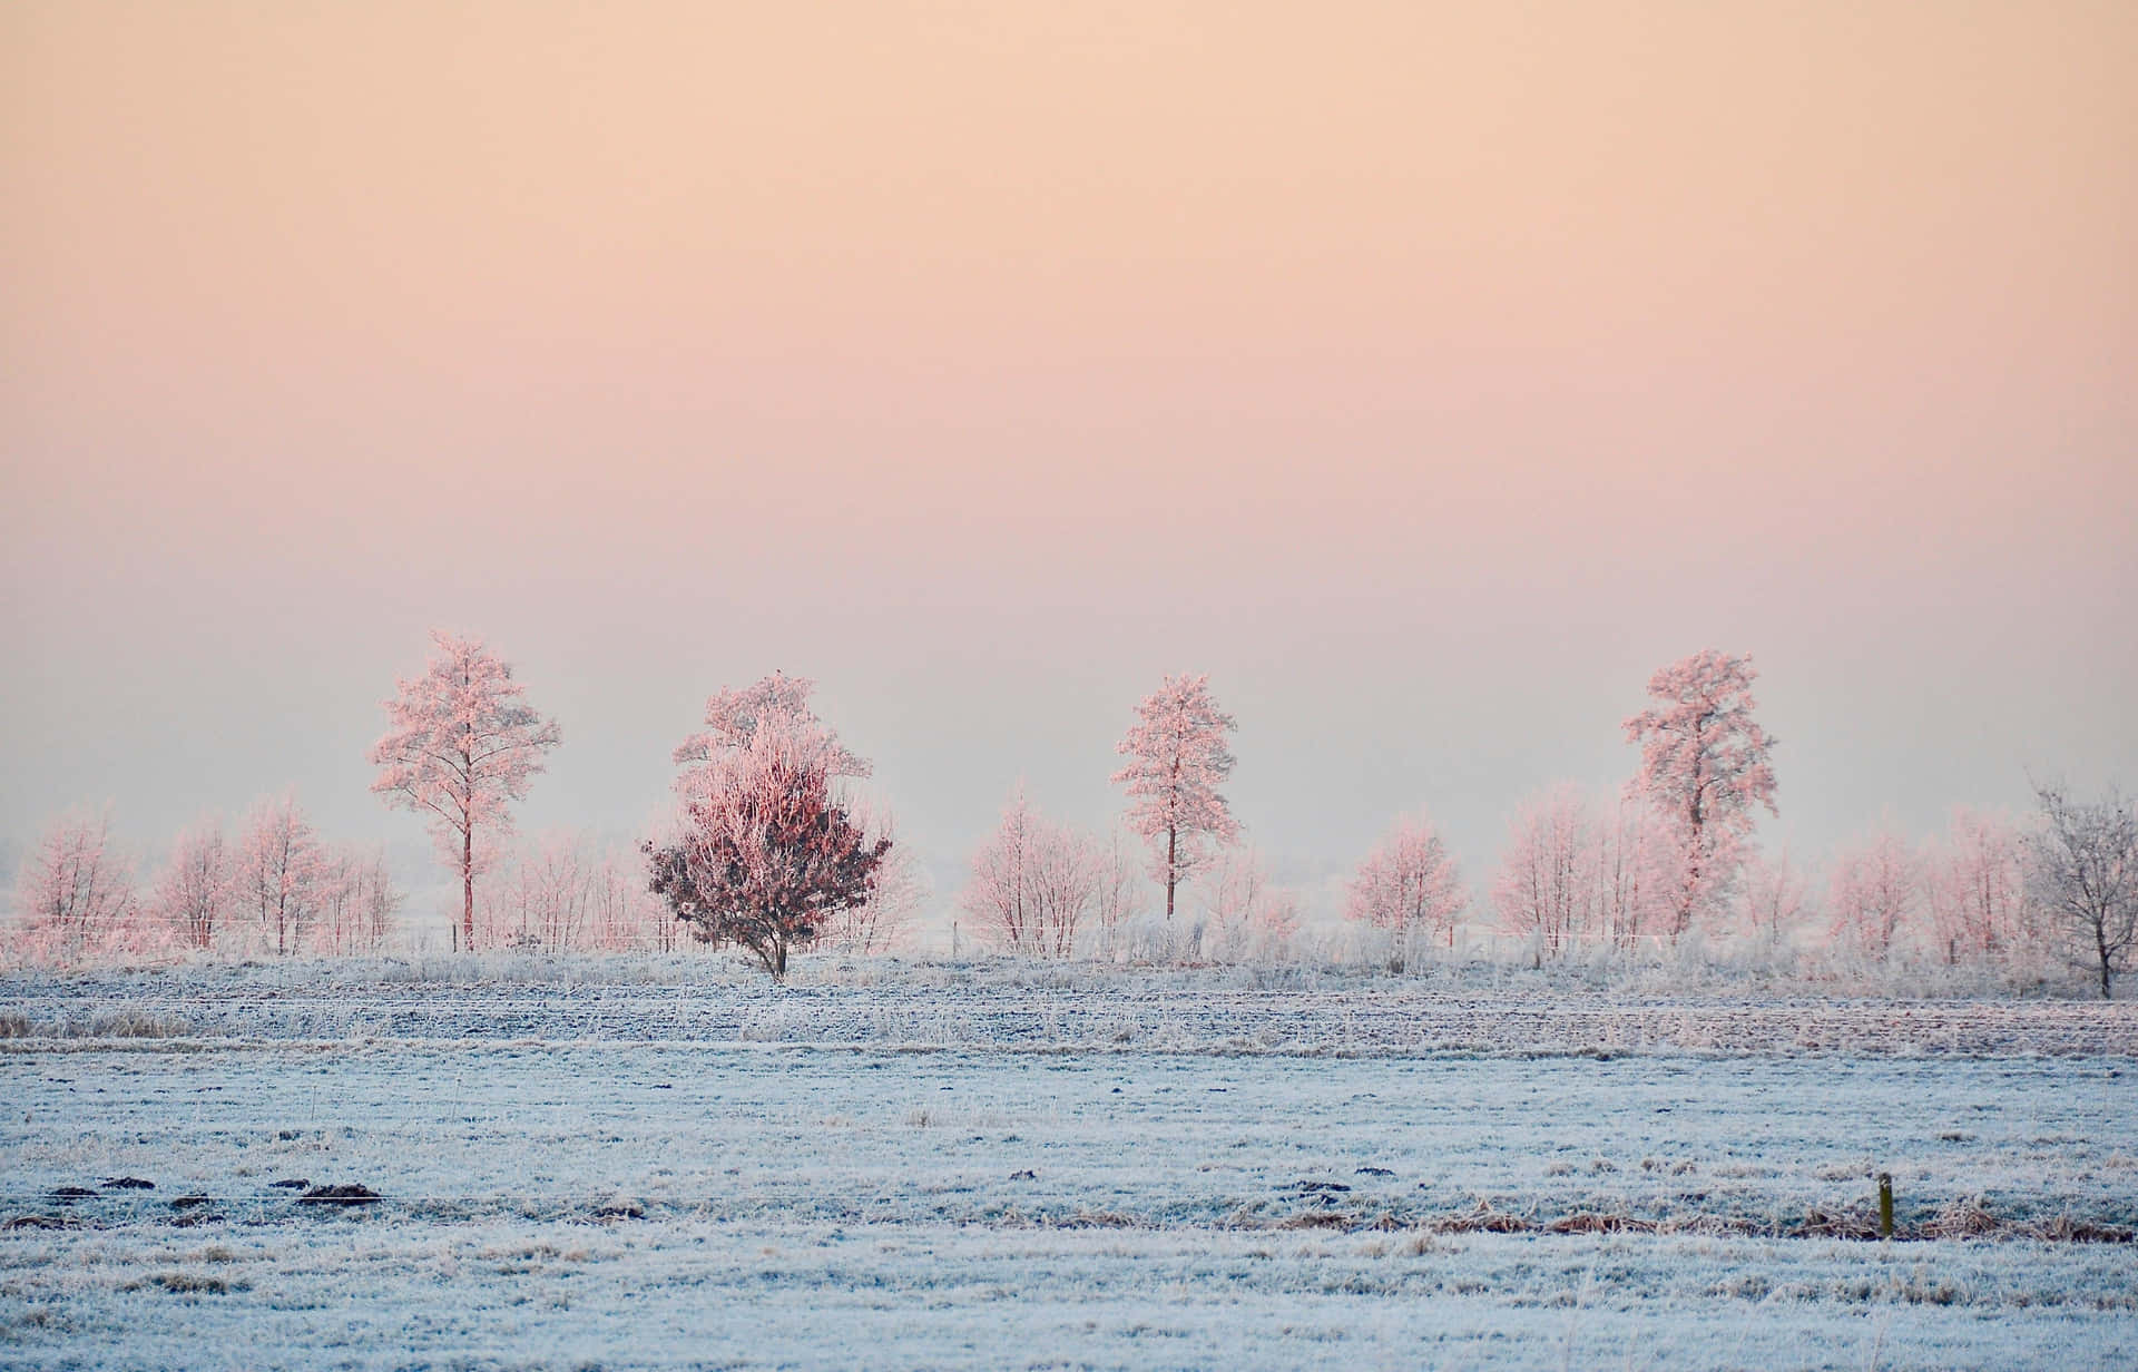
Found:
[[338, 838], [432, 626], [629, 836], [772, 669], [939, 885], [1210, 673], [1473, 878], [1751, 652], [1768, 838], [2138, 784], [2138, 9], [0, 6], [0, 836]]

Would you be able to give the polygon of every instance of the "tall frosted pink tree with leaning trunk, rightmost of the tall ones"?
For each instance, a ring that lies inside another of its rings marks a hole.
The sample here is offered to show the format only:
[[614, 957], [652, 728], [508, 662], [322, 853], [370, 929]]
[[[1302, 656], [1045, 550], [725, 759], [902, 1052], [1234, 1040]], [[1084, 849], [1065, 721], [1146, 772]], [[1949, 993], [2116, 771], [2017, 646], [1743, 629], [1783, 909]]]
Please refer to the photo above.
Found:
[[1695, 652], [1648, 677], [1655, 703], [1625, 720], [1627, 742], [1640, 744], [1627, 791], [1670, 816], [1680, 844], [1672, 938], [1728, 895], [1753, 808], [1781, 814], [1768, 759], [1775, 739], [1751, 718], [1757, 675], [1749, 654]]

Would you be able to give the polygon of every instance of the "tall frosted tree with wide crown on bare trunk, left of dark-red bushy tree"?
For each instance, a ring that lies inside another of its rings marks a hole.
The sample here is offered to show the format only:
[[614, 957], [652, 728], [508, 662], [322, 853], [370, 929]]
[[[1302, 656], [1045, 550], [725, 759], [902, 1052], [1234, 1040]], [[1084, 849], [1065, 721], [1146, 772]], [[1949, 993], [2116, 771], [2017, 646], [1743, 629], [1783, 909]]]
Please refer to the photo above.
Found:
[[430, 816], [440, 857], [460, 870], [462, 942], [475, 947], [479, 836], [511, 831], [511, 804], [562, 735], [537, 714], [513, 669], [481, 639], [432, 633], [438, 654], [413, 682], [396, 682], [387, 733], [372, 744], [372, 791]]

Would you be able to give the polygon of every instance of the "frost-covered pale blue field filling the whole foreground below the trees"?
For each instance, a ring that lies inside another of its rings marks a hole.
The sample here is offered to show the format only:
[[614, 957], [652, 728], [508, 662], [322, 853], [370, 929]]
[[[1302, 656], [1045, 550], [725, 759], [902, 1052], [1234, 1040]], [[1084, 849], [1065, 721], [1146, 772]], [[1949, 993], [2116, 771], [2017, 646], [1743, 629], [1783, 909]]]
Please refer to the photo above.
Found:
[[[0, 1366], [2138, 1366], [2134, 1011], [716, 960], [15, 977]], [[1890, 1244], [1860, 1237], [1881, 1169]]]

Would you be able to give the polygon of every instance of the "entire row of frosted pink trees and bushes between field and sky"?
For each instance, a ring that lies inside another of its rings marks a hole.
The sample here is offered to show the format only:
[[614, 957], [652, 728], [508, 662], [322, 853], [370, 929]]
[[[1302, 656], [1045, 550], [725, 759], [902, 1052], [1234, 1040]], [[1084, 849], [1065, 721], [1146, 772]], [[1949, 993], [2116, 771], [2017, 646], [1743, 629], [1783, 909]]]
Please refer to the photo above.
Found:
[[[434, 645], [423, 673], [396, 684], [370, 761], [372, 789], [428, 821], [460, 885], [455, 947], [735, 947], [783, 977], [800, 949], [896, 947], [928, 902], [889, 814], [855, 797], [870, 765], [815, 714], [808, 680], [774, 673], [708, 701], [703, 731], [673, 752], [663, 833], [526, 844], [511, 808], [562, 733], [481, 639]], [[1755, 680], [1749, 656], [1715, 650], [1657, 671], [1623, 722], [1633, 776], [1612, 795], [1563, 782], [1524, 799], [1475, 913], [1430, 816], [1398, 816], [1345, 885], [1347, 921], [1398, 968], [1482, 927], [1539, 966], [1728, 942], [1830, 966], [2061, 964], [2112, 992], [2138, 951], [2129, 799], [2040, 784], [2029, 818], [1963, 808], [1926, 846], [1888, 829], [1843, 848], [1822, 891], [1787, 848], [1755, 844], [1760, 812], [1779, 814]], [[1165, 677], [1118, 744], [1120, 821], [1099, 836], [1058, 825], [1020, 786], [956, 913], [986, 945], [1031, 957], [1298, 955], [1300, 898], [1242, 844], [1223, 793], [1236, 729], [1208, 677]], [[383, 853], [323, 842], [289, 795], [261, 801], [235, 840], [212, 821], [190, 827], [148, 891], [111, 844], [109, 812], [75, 812], [24, 863], [9, 938], [17, 960], [41, 962], [370, 953], [400, 904]]]

